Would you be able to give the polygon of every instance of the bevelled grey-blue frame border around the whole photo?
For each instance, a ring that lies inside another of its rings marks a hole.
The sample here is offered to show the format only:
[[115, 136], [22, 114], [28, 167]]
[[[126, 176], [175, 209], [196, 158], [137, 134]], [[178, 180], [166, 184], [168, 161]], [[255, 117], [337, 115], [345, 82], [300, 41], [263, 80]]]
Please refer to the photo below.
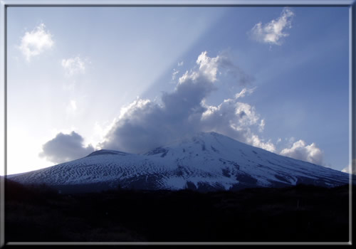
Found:
[[[4, 162], [4, 169], [0, 169], [0, 175], [6, 176], [7, 166], [7, 8], [9, 7], [83, 7], [83, 6], [348, 6], [349, 7], [349, 161], [353, 171], [356, 171], [356, 76], [355, 76], [355, 46], [356, 46], [356, 0], [0, 0], [0, 140], [4, 149], [0, 151], [0, 161]], [[1, 148], [1, 145], [0, 145]], [[348, 242], [6, 242], [5, 241], [5, 205], [4, 186], [5, 178], [0, 176], [0, 248], [9, 245], [352, 245], [352, 178], [349, 181], [349, 241]]]

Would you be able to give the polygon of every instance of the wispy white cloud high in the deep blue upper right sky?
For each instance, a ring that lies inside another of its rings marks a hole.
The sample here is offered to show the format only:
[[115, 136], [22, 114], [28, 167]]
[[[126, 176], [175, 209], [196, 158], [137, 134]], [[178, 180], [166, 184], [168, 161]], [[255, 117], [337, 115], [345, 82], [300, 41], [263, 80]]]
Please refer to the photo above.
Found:
[[283, 33], [286, 28], [292, 27], [292, 18], [295, 16], [289, 8], [284, 8], [281, 16], [262, 25], [257, 23], [250, 31], [251, 37], [261, 43], [281, 45], [281, 38], [289, 36]]

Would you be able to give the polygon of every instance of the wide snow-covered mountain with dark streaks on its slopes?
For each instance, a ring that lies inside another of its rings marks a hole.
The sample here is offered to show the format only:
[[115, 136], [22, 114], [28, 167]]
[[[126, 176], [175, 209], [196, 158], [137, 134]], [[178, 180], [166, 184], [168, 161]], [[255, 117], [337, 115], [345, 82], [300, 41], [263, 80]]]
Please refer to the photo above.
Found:
[[145, 154], [103, 149], [82, 159], [7, 177], [63, 191], [100, 191], [117, 186], [212, 191], [295, 184], [332, 187], [348, 184], [350, 176], [215, 132], [201, 132]]

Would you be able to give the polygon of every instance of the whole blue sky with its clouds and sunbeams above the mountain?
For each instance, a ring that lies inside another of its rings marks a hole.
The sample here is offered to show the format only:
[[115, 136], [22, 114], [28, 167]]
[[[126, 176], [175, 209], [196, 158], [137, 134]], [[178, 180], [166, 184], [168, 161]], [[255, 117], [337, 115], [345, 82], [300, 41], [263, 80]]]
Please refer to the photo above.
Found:
[[8, 174], [199, 131], [345, 169], [348, 22], [347, 7], [9, 7]]

